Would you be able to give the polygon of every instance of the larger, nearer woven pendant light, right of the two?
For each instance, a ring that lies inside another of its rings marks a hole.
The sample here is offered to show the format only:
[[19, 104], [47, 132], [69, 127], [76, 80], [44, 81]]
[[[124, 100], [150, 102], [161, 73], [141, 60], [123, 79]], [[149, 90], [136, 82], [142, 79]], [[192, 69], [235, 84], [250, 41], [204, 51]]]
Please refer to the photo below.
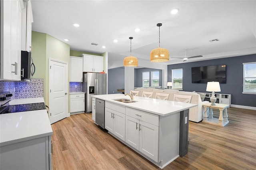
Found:
[[153, 49], [150, 53], [150, 61], [152, 62], [166, 62], [169, 61], [169, 51], [166, 48], [160, 48], [160, 26], [161, 23], [156, 24], [159, 27], [159, 47]]

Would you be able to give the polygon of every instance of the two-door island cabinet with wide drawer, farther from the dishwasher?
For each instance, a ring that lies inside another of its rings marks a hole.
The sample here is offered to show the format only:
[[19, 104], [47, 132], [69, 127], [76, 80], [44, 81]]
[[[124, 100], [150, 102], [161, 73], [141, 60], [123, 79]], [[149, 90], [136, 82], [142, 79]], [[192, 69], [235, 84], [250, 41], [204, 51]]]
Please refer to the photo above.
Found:
[[[132, 109], [126, 110], [128, 110], [128, 112], [132, 111]], [[137, 111], [135, 114], [136, 118], [128, 116], [133, 115], [128, 112], [126, 112], [125, 142], [152, 160], [158, 162], [159, 127], [142, 121], [144, 116], [151, 116], [145, 115], [147, 114], [145, 112], [141, 112], [143, 114], [140, 114], [139, 111]], [[152, 116], [152, 119], [156, 118], [154, 115]]]

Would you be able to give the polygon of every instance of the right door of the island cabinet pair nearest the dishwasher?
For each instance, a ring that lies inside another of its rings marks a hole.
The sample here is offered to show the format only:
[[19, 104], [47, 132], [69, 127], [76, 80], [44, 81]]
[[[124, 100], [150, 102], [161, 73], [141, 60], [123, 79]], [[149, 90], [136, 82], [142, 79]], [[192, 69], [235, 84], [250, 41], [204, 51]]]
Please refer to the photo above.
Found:
[[114, 112], [114, 135], [125, 141], [125, 115]]

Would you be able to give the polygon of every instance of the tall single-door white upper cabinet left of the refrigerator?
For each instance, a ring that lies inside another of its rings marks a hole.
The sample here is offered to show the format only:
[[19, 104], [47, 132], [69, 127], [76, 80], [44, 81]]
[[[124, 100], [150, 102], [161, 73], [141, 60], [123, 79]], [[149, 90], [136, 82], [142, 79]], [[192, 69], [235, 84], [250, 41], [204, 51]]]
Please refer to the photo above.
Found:
[[83, 58], [70, 56], [69, 81], [83, 81]]

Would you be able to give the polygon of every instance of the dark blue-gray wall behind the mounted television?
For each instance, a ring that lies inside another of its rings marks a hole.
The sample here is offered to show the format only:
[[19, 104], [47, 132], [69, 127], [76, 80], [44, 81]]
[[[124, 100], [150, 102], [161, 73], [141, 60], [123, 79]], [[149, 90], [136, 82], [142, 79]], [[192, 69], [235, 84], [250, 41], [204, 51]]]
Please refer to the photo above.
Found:
[[[172, 81], [172, 69], [183, 69], [183, 91], [206, 92], [206, 84], [191, 83], [191, 67], [226, 64], [226, 84], [220, 84], [221, 92], [231, 94], [231, 104], [256, 107], [256, 95], [242, 94], [243, 64], [255, 62], [256, 54], [222, 59], [212, 59], [168, 65], [168, 81]], [[208, 92], [209, 93], [209, 92]]]

